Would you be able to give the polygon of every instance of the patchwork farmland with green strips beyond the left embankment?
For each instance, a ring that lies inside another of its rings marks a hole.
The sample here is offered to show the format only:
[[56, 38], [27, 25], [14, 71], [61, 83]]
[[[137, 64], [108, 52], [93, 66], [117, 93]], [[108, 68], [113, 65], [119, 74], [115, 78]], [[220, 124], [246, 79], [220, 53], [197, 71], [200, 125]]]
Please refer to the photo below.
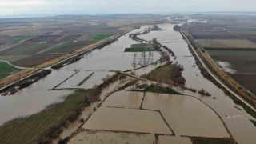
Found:
[[134, 27], [163, 21], [164, 16], [133, 14], [1, 19], [0, 60], [34, 67]]

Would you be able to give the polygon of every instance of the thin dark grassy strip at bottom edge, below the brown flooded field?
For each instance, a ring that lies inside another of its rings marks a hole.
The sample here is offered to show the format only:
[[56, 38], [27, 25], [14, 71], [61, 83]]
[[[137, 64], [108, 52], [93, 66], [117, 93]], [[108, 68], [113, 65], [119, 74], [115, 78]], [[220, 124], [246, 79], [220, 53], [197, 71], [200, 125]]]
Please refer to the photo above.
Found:
[[234, 144], [230, 138], [190, 138], [194, 144]]

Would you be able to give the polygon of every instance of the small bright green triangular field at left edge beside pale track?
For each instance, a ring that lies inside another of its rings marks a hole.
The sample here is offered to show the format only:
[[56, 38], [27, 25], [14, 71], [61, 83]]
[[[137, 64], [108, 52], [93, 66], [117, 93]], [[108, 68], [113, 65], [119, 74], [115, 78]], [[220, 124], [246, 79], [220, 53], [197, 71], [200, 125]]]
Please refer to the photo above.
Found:
[[0, 61], [0, 79], [6, 78], [7, 76], [9, 76], [11, 74], [14, 74], [14, 73], [17, 73], [20, 70], [21, 69], [18, 69], [14, 66], [10, 66], [6, 62], [1, 62]]

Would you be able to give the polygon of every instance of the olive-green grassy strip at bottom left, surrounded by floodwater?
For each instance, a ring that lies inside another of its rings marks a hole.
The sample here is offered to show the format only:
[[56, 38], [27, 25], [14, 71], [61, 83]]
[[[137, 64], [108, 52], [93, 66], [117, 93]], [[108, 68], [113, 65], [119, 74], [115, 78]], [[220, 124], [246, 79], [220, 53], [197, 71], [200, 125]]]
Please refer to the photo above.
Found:
[[94, 95], [95, 90], [76, 90], [63, 102], [48, 106], [38, 114], [16, 118], [0, 126], [0, 143], [37, 143], [54, 134], [54, 129], [77, 115], [85, 98]]

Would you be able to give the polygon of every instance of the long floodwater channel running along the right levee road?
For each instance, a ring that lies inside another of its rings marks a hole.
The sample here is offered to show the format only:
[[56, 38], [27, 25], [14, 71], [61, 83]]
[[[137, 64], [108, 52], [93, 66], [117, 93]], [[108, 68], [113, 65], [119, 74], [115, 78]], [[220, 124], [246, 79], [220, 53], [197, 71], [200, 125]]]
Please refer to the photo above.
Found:
[[[194, 57], [192, 57], [190, 50], [188, 49], [187, 43], [182, 39], [182, 35], [178, 31], [173, 30], [174, 25], [162, 24], [158, 25], [162, 28], [162, 31], [152, 31], [149, 34], [140, 35], [139, 38], [146, 40], [151, 40], [152, 38], [157, 38], [158, 42], [162, 45], [167, 46], [177, 58], [177, 61], [184, 67], [182, 71], [182, 76], [186, 79], [186, 87], [194, 88], [196, 90], [204, 89], [209, 92], [212, 96], [205, 97], [198, 93], [193, 93], [190, 91], [184, 91], [184, 94], [193, 95], [200, 98], [208, 106], [217, 112], [217, 114], [224, 119], [226, 126], [230, 130], [234, 139], [238, 143], [252, 143], [256, 142], [256, 128], [253, 126], [250, 119], [252, 118], [246, 111], [235, 104], [224, 92], [215, 86], [212, 82], [208, 81], [202, 76], [198, 66], [196, 66]], [[235, 108], [238, 107], [239, 109]], [[243, 118], [243, 121], [239, 121], [238, 118]], [[226, 121], [225, 118], [231, 118], [232, 121]], [[246, 127], [243, 130], [240, 126]], [[243, 131], [243, 133], [240, 133]]]

